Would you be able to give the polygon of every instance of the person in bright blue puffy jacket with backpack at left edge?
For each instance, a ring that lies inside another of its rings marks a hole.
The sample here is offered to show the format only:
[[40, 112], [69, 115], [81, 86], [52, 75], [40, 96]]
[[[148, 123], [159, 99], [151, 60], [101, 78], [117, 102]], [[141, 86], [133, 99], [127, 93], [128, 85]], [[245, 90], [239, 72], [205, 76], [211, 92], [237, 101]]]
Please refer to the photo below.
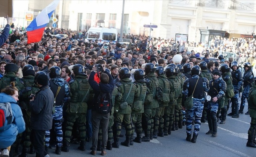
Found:
[[[1, 90], [0, 93], [0, 149], [2, 155], [9, 157], [11, 145], [18, 133], [25, 131], [25, 121], [18, 106], [18, 89], [15, 83]], [[0, 153], [1, 154], [1, 153]]]

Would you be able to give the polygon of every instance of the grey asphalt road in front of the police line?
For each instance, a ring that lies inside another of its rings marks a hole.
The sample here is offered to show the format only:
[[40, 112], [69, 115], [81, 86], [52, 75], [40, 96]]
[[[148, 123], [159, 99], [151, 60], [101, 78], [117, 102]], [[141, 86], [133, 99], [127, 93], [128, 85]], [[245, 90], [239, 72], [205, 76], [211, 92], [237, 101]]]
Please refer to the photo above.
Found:
[[[246, 112], [248, 105], [245, 106]], [[230, 112], [230, 109], [228, 113]], [[250, 157], [256, 156], [256, 149], [246, 147], [247, 131], [250, 127], [251, 118], [249, 115], [240, 114], [240, 118], [231, 118], [227, 116], [225, 124], [218, 124], [218, 136], [211, 137], [206, 135], [208, 124], [202, 123], [197, 142], [192, 143], [186, 141], [186, 128], [172, 131], [172, 135], [158, 137], [150, 142], [141, 144], [135, 143], [133, 146], [113, 148], [112, 151], [107, 150], [109, 157]], [[122, 134], [125, 130], [122, 128]], [[120, 138], [120, 142], [125, 137]], [[87, 157], [90, 154], [91, 143], [86, 143], [86, 151], [82, 152], [77, 149], [79, 145], [71, 144], [69, 153], [62, 152], [56, 155], [54, 149], [49, 150], [51, 157]], [[32, 157], [35, 155], [29, 155]], [[101, 156], [101, 152], [97, 152], [97, 156]]]

